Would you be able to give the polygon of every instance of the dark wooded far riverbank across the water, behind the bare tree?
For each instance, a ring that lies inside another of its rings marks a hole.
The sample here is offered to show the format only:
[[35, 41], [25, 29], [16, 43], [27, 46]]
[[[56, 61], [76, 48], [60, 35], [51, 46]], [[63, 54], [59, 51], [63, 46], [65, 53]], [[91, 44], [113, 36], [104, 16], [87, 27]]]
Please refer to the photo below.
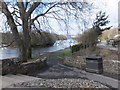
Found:
[[[23, 37], [22, 33], [19, 33], [20, 37]], [[0, 33], [1, 41], [0, 44], [5, 45], [5, 47], [16, 47], [15, 40], [11, 33]], [[32, 47], [48, 47], [52, 46], [57, 40], [65, 40], [66, 37], [63, 35], [57, 35], [55, 33], [40, 32], [35, 30], [30, 32], [31, 46]]]

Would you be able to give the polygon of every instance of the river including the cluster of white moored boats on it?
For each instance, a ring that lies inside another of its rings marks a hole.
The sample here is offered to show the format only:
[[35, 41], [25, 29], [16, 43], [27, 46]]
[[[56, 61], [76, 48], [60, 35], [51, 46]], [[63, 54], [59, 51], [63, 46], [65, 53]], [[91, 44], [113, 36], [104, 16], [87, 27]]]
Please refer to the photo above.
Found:
[[[32, 55], [38, 54], [38, 53], [43, 53], [43, 52], [55, 52], [58, 50], [62, 50], [65, 48], [68, 48], [74, 44], [77, 44], [77, 41], [73, 39], [69, 40], [58, 40], [54, 43], [53, 46], [51, 47], [45, 47], [45, 48], [32, 48]], [[19, 52], [17, 48], [6, 48], [6, 47], [1, 47], [0, 48], [0, 60], [2, 59], [7, 59], [7, 58], [15, 58], [18, 57]]]

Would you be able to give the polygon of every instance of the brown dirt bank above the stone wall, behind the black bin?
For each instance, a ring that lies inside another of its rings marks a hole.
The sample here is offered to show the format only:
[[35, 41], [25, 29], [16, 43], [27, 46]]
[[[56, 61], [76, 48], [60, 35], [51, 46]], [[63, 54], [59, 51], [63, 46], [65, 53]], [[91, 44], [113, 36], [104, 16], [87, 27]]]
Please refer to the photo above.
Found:
[[118, 60], [118, 51], [105, 48], [81, 49], [74, 53], [75, 56], [101, 56], [103, 60]]

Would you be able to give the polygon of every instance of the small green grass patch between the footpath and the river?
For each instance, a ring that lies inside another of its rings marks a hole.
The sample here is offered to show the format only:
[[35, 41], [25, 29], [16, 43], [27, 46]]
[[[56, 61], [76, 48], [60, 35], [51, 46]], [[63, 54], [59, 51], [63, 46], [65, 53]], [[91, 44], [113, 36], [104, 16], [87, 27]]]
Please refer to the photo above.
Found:
[[52, 57], [64, 58], [66, 56], [71, 56], [71, 55], [72, 55], [71, 49], [66, 49], [64, 51], [60, 51], [60, 52], [52, 54]]

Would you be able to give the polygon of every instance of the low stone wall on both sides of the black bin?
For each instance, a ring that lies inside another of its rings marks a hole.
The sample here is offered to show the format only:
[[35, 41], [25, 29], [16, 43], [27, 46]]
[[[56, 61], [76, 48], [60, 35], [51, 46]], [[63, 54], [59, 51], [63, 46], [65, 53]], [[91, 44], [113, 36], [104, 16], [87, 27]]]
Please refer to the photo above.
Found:
[[[84, 57], [66, 57], [63, 61], [68, 66], [73, 66], [85, 70], [86, 60]], [[120, 61], [117, 60], [103, 60], [103, 72], [109, 74], [120, 74]]]

